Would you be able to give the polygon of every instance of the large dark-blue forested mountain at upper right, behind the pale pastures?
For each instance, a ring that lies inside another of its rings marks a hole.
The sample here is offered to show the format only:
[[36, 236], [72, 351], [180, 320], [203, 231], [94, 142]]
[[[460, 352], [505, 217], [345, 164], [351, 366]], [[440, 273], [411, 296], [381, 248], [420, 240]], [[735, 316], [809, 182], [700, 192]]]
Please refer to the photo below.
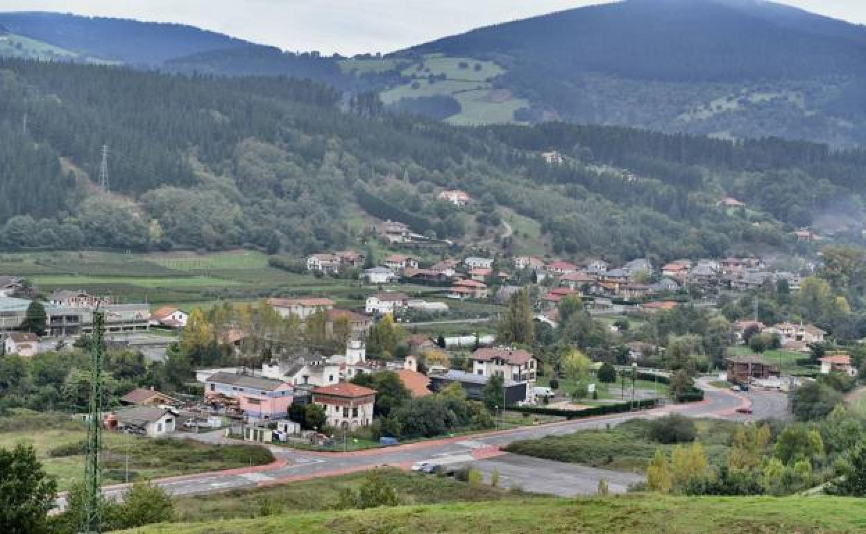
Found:
[[476, 29], [397, 57], [496, 61], [515, 118], [866, 141], [866, 29], [753, 0], [628, 0]]

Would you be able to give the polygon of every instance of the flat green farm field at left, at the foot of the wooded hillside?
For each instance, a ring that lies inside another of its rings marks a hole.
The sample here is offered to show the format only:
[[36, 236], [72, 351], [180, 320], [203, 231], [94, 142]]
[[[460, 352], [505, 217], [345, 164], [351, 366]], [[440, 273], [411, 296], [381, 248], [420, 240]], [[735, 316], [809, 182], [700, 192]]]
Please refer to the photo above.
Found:
[[[222, 299], [251, 302], [272, 296], [328, 296], [338, 306], [359, 308], [376, 291], [359, 280], [289, 273], [268, 267], [265, 254], [252, 251], [120, 254], [107, 252], [45, 252], [0, 254], [0, 273], [29, 278], [42, 293], [81, 289], [112, 295], [118, 302], [148, 302], [191, 308], [210, 307]], [[412, 296], [436, 294], [442, 288], [396, 285]], [[472, 313], [486, 305], [458, 303]], [[487, 306], [486, 312], [489, 312]]]

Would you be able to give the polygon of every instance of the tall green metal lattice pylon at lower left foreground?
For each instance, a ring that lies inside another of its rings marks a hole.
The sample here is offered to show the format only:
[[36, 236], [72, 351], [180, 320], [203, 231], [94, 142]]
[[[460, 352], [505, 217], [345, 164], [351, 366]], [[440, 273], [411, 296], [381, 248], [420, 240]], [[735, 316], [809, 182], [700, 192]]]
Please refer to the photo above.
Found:
[[94, 335], [90, 342], [90, 417], [87, 420], [87, 458], [84, 471], [84, 520], [81, 532], [99, 534], [101, 530], [100, 448], [102, 434], [102, 337], [105, 312], [94, 311]]

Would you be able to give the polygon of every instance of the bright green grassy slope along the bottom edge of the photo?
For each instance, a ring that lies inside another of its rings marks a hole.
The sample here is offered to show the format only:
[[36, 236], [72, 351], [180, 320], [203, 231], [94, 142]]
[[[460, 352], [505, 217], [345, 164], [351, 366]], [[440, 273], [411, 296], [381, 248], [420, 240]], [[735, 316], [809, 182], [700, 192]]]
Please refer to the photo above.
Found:
[[158, 524], [138, 534], [848, 534], [866, 529], [861, 499], [662, 498], [520, 499], [414, 505], [368, 511]]

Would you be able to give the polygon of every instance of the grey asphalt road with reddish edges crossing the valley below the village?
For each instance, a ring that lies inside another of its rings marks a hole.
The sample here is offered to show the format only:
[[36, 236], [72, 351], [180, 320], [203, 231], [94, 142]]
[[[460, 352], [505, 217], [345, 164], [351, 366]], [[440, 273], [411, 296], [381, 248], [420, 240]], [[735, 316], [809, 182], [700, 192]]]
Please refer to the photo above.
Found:
[[[707, 388], [704, 402], [668, 405], [642, 412], [515, 428], [467, 438], [410, 443], [359, 453], [317, 454], [288, 447], [270, 446], [269, 448], [275, 456], [285, 460], [286, 465], [259, 467], [251, 473], [237, 473], [236, 470], [224, 473], [203, 473], [191, 475], [184, 479], [158, 480], [155, 483], [165, 487], [165, 490], [172, 495], [193, 495], [281, 484], [297, 479], [333, 476], [340, 473], [362, 471], [376, 466], [409, 466], [418, 461], [435, 461], [449, 465], [473, 463], [487, 473], [492, 472], [495, 466], [500, 469], [503, 479], [507, 479], [509, 484], [535, 492], [549, 492], [566, 496], [584, 492], [591, 493], [598, 488], [598, 479], [600, 478], [607, 479], [612, 490], [624, 491], [628, 485], [636, 482], [640, 477], [548, 460], [518, 457], [511, 454], [489, 458], [487, 454], [480, 453], [489, 453], [495, 447], [504, 447], [513, 441], [531, 440], [546, 435], [570, 434], [589, 428], [615, 426], [634, 417], [655, 418], [670, 413], [678, 413], [737, 420], [744, 418], [736, 414], [735, 410], [749, 403], [745, 394], [734, 394], [725, 389], [714, 389], [706, 384], [702, 385]], [[784, 402], [780, 398], [773, 398], [773, 395], [782, 397], [779, 394], [764, 392], [751, 394], [754, 402], [754, 414], [749, 417], [757, 420], [778, 415], [779, 408], [784, 406]], [[196, 434], [194, 436], [186, 434], [186, 437], [211, 442], [222, 439], [218, 433]], [[108, 497], [117, 498], [125, 489], [123, 486], [112, 486], [105, 488], [105, 492]], [[65, 501], [61, 496], [58, 499], [58, 505], [62, 507], [64, 504]]]

